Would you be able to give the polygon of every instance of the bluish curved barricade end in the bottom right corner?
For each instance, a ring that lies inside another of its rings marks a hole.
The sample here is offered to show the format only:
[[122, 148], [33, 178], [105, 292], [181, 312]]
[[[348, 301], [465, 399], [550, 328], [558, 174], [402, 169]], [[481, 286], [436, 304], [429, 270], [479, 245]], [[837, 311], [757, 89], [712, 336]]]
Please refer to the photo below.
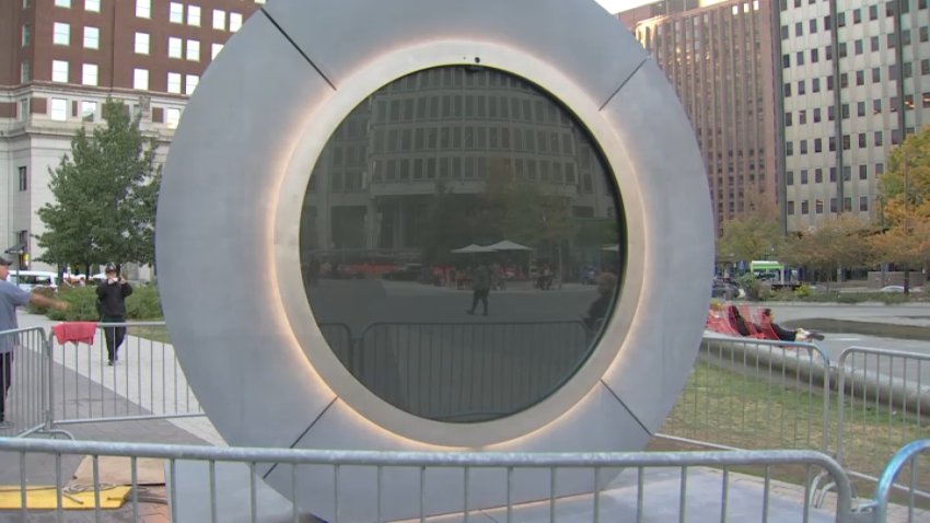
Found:
[[[888, 505], [893, 490], [898, 488], [904, 490], [900, 497], [906, 503], [907, 521], [930, 521], [930, 508], [927, 504], [927, 500], [930, 499], [930, 479], [919, 475], [919, 470], [928, 468], [930, 468], [930, 440], [918, 440], [903, 446], [882, 472], [872, 503], [864, 505], [863, 509], [874, 513], [875, 523], [885, 523], [888, 520]], [[903, 487], [898, 480], [902, 475], [907, 478]], [[918, 507], [918, 498], [922, 498], [922, 508]]]

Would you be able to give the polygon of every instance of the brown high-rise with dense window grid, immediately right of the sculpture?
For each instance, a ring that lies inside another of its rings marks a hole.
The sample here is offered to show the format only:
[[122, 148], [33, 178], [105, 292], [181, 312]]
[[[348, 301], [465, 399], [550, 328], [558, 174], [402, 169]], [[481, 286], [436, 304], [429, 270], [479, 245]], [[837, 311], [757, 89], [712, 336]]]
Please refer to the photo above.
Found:
[[774, 13], [766, 1], [681, 7], [647, 20], [618, 16], [632, 23], [688, 114], [719, 230], [728, 219], [778, 201]]

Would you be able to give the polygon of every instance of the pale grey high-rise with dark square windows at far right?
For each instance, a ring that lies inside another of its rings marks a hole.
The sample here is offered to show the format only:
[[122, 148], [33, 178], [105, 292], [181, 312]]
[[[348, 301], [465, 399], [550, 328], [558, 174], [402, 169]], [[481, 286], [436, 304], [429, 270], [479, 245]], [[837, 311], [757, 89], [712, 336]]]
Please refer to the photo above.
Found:
[[890, 150], [930, 123], [927, 0], [780, 0], [789, 231], [881, 212]]

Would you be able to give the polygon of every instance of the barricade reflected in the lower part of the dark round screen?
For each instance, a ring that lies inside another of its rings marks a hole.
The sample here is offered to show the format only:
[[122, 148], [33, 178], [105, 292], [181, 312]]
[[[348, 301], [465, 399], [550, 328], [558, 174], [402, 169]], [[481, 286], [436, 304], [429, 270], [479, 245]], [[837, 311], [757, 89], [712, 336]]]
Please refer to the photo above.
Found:
[[581, 322], [374, 323], [342, 362], [398, 408], [467, 421], [548, 396], [590, 350]]

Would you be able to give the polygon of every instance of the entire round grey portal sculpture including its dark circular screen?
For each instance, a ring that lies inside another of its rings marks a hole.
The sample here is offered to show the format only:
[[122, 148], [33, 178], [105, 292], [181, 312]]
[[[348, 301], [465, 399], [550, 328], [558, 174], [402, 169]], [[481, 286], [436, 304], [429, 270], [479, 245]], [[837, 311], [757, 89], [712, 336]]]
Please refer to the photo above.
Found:
[[[712, 245], [664, 74], [565, 0], [268, 4], [185, 111], [156, 237], [226, 441], [363, 450], [641, 449], [697, 353]], [[412, 515], [391, 474], [382, 513]], [[372, 518], [369, 476], [342, 472], [340, 515]], [[548, 496], [527, 479], [519, 500]], [[461, 510], [462, 480], [431, 476], [428, 512]], [[469, 504], [505, 480], [474, 474]], [[329, 519], [330, 481], [302, 472], [294, 501]]]

